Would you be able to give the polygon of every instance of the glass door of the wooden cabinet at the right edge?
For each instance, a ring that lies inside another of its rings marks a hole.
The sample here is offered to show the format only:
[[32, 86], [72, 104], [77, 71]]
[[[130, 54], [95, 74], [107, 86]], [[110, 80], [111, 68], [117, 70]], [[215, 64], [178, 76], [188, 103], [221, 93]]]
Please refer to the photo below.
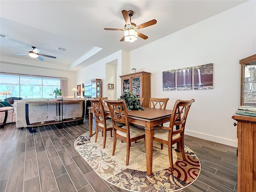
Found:
[[244, 65], [244, 104], [256, 106], [256, 63]]

